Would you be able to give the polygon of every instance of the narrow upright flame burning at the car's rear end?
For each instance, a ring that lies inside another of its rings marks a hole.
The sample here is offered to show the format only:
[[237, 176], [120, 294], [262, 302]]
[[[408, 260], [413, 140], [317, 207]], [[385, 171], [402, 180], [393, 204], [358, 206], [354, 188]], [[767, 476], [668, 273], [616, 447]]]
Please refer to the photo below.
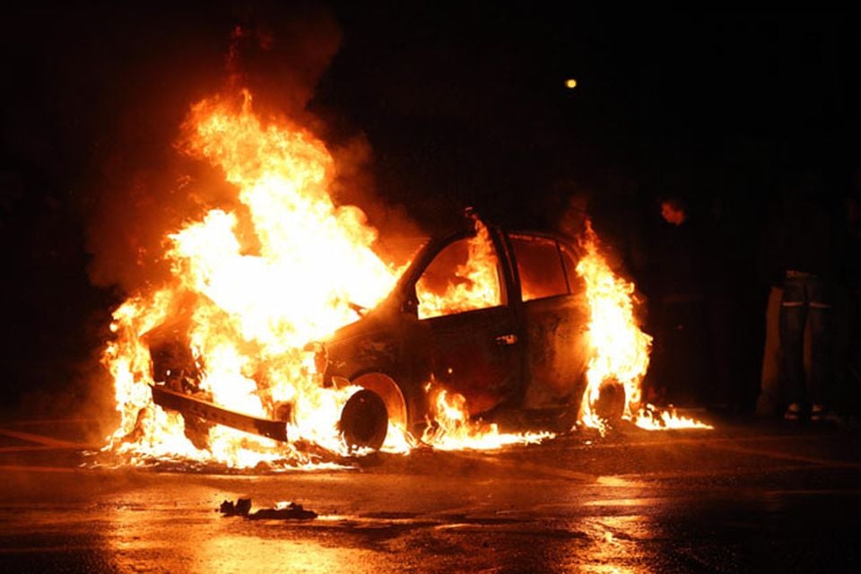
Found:
[[585, 255], [578, 262], [577, 273], [586, 283], [591, 359], [578, 422], [603, 434], [608, 422], [598, 405], [602, 394], [615, 386], [623, 391], [622, 419], [633, 421], [641, 429], [710, 429], [707, 424], [676, 415], [674, 410], [641, 404], [640, 385], [648, 370], [652, 337], [640, 330], [634, 314], [636, 288], [613, 273], [598, 251], [591, 225], [587, 225], [581, 245]]

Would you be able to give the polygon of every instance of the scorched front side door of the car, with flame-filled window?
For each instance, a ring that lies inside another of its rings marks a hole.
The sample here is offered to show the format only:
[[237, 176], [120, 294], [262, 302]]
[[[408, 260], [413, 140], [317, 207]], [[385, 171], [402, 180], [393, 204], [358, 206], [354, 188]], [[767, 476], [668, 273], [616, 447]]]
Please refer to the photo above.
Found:
[[486, 228], [452, 239], [410, 286], [417, 301], [408, 337], [415, 371], [465, 396], [470, 414], [516, 396], [523, 380], [522, 334], [499, 247]]

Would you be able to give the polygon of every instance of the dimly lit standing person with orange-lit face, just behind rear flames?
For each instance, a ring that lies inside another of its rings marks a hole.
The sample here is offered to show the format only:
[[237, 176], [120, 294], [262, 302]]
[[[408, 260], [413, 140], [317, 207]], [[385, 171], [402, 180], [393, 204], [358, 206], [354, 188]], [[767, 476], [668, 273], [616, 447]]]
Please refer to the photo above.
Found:
[[681, 196], [662, 198], [660, 216], [646, 270], [656, 335], [651, 398], [699, 405], [711, 387], [704, 241]]

